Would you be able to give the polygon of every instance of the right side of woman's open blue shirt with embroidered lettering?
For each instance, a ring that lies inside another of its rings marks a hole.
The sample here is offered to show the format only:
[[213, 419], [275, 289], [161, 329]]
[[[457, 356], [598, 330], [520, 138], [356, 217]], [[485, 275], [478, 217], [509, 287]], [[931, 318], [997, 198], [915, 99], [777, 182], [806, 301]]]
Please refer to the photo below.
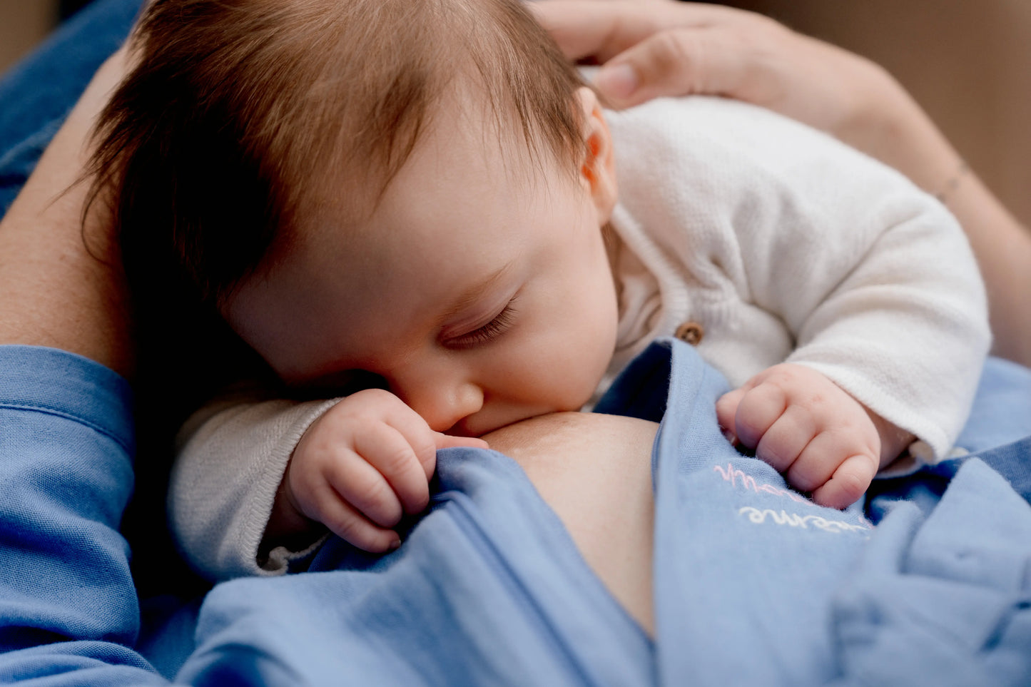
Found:
[[[728, 451], [713, 410], [726, 387], [678, 341], [646, 351], [603, 408], [654, 407], [655, 387], [639, 380], [666, 366], [660, 682], [1031, 684], [1031, 508], [988, 467], [1026, 476], [1028, 439], [892, 481], [865, 512], [841, 513], [799, 501], [767, 465]], [[971, 448], [1026, 435], [1028, 370], [993, 363], [977, 404]]]

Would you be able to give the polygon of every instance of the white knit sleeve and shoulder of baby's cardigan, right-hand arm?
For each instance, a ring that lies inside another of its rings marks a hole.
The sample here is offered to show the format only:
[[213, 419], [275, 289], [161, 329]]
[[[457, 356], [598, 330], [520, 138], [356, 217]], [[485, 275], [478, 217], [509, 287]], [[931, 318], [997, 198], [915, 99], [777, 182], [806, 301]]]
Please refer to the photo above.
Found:
[[[709, 331], [703, 357], [734, 386], [776, 363], [804, 365], [887, 420], [886, 437], [894, 425], [928, 460], [949, 455], [990, 334], [969, 243], [939, 202], [742, 103], [660, 99], [613, 113], [609, 126], [624, 143], [622, 207], [655, 233], [655, 247], [632, 248], [672, 258], [652, 262], [671, 285], [669, 302], [689, 302], [679, 317]], [[678, 186], [668, 202], [656, 202], [657, 159]], [[690, 296], [675, 289], [679, 264]], [[681, 321], [663, 324], [672, 331]]]

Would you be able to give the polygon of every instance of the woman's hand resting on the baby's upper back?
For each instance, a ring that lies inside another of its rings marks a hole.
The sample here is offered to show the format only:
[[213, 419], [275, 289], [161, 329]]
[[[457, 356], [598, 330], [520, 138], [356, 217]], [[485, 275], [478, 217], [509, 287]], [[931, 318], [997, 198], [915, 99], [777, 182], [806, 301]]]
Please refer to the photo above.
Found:
[[568, 57], [604, 63], [598, 90], [618, 107], [658, 96], [721, 95], [847, 139], [895, 88], [876, 64], [754, 12], [673, 0], [533, 4]]

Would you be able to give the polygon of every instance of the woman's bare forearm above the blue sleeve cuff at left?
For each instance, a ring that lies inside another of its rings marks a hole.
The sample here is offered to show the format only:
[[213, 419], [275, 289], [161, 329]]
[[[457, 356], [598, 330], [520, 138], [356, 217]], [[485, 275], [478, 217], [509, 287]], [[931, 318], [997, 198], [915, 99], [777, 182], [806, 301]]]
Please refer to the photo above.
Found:
[[0, 221], [0, 343], [48, 346], [123, 375], [133, 366], [117, 241], [102, 202], [84, 217], [88, 138], [125, 71], [120, 51], [97, 72]]

